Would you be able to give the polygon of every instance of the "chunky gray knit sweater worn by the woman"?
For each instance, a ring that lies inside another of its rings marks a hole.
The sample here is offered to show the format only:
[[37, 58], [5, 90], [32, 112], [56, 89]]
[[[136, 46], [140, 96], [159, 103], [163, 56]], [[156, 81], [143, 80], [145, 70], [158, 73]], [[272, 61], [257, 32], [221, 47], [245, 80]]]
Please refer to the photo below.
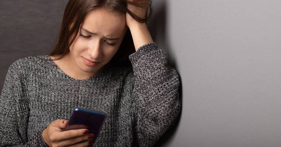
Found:
[[155, 42], [129, 60], [132, 66], [108, 66], [83, 80], [53, 61], [15, 61], [1, 91], [0, 146], [47, 146], [42, 130], [54, 120], [69, 120], [75, 107], [108, 114], [94, 146], [153, 146], [179, 117], [178, 73]]

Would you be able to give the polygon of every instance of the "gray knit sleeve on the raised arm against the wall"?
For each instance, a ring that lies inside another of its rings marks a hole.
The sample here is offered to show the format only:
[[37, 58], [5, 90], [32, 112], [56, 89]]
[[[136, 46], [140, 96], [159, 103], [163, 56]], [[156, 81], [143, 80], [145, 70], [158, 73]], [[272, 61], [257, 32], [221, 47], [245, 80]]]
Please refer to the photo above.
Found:
[[135, 139], [138, 146], [153, 146], [173, 125], [180, 111], [179, 77], [167, 65], [166, 53], [155, 42], [129, 56], [134, 74]]

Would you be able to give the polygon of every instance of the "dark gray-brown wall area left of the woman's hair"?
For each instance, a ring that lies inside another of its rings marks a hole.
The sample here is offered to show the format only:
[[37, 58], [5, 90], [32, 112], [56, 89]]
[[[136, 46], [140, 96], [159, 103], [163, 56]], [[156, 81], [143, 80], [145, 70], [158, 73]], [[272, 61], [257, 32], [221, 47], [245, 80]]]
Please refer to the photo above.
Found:
[[0, 89], [16, 60], [50, 52], [68, 0], [0, 1]]

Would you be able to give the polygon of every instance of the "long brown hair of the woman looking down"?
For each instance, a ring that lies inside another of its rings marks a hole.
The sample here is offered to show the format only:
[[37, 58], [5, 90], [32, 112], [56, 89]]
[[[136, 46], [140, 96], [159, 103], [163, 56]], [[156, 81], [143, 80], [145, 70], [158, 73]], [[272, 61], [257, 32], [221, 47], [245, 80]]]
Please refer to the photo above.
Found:
[[[132, 11], [127, 8], [127, 4], [147, 8], [145, 18], [142, 19], [132, 13]], [[83, 22], [85, 16], [88, 14], [89, 11], [99, 7], [104, 7], [110, 12], [114, 13], [129, 13], [129, 15], [132, 16], [135, 20], [143, 23], [146, 23], [152, 15], [151, 0], [69, 0], [63, 14], [58, 39], [55, 43], [55, 46], [51, 49], [51, 52], [48, 55], [54, 56], [61, 54], [61, 57], [59, 57], [58, 59], [54, 59], [59, 60], [64, 57], [67, 53], [69, 53], [69, 47], [73, 43], [75, 36], [77, 36], [77, 33], [80, 29], [80, 24]], [[148, 11], [149, 14], [147, 15]], [[134, 52], [135, 47], [132, 35], [130, 30], [127, 29], [119, 49], [112, 57], [110, 62], [113, 65], [130, 65], [128, 57]]]

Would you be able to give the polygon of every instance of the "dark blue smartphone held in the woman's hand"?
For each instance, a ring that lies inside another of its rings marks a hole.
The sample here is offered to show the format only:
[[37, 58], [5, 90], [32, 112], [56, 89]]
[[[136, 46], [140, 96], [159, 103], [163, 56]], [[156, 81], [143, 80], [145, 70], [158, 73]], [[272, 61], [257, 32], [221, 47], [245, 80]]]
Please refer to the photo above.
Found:
[[[106, 119], [107, 114], [105, 112], [83, 108], [74, 108], [68, 125], [66, 126], [64, 131], [86, 128], [90, 131], [90, 133], [93, 133], [95, 135], [95, 137], [93, 138], [95, 142], [100, 133], [100, 130], [103, 128]], [[91, 144], [91, 146], [92, 145], [94, 145], [94, 143]]]

